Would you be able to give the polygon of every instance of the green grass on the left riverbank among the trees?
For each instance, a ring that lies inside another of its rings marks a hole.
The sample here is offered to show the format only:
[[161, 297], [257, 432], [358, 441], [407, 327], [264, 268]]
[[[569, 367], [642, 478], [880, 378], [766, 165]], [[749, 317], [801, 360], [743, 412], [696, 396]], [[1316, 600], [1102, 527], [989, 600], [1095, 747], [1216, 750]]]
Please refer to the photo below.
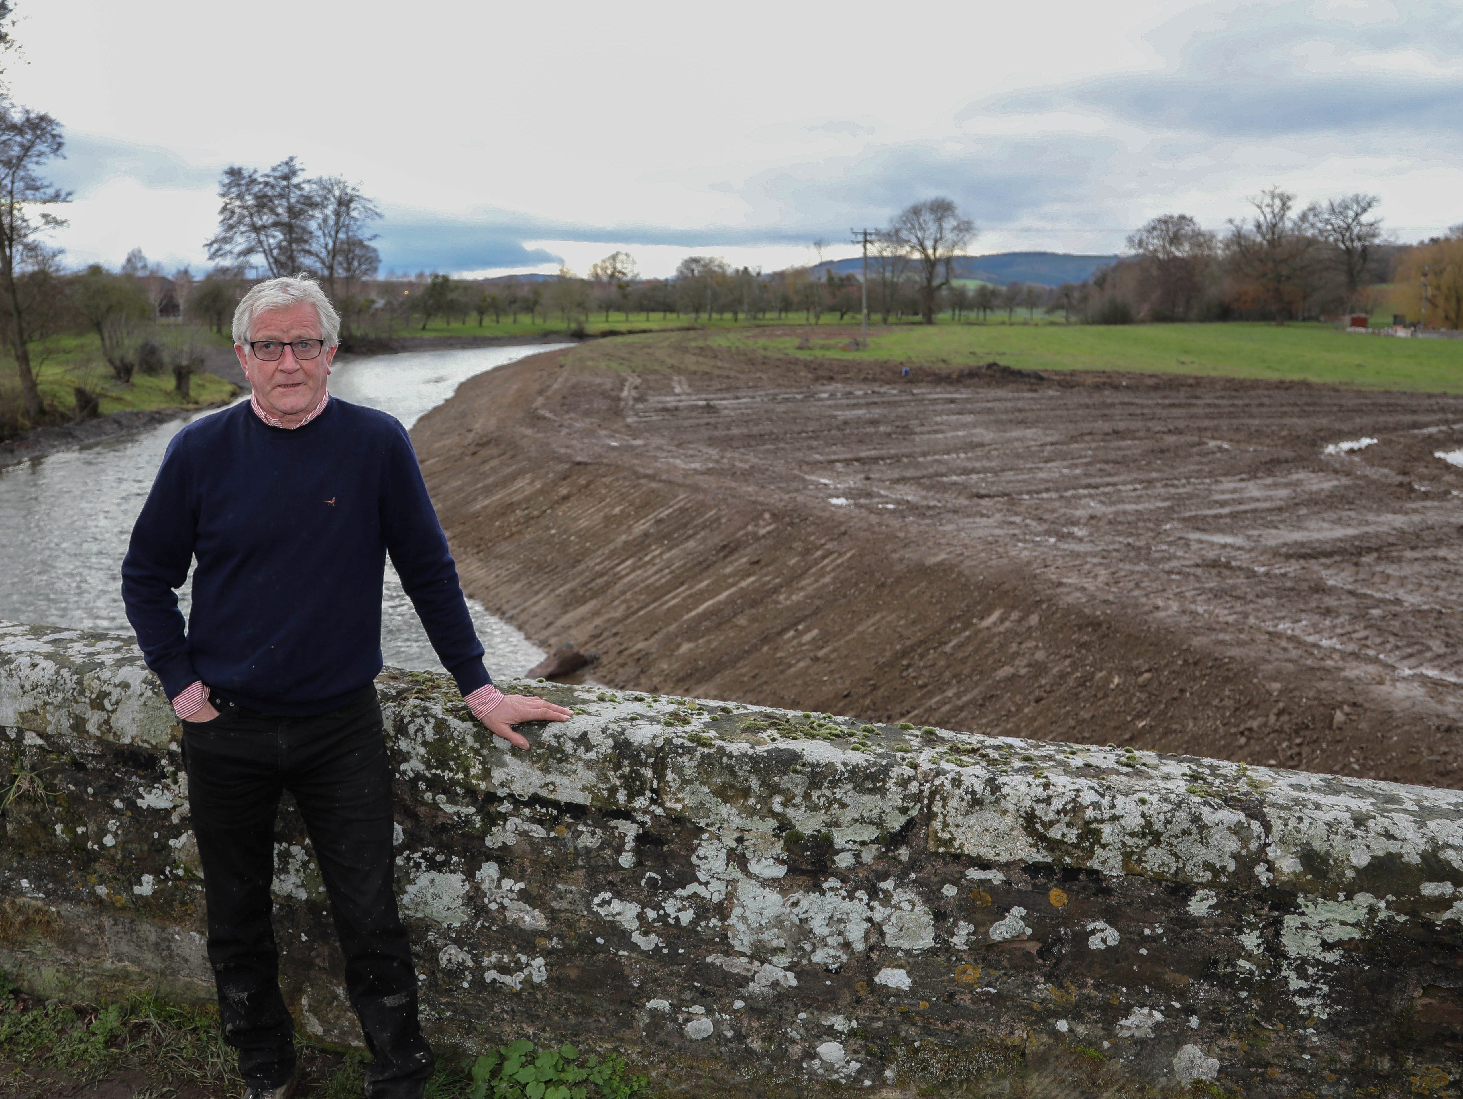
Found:
[[[227, 345], [227, 338], [219, 338]], [[76, 386], [101, 395], [101, 414], [130, 408], [177, 408], [212, 404], [228, 398], [236, 388], [214, 375], [193, 375], [190, 397], [183, 400], [173, 386], [173, 373], [135, 373], [130, 383], [119, 382], [101, 357], [101, 341], [95, 334], [57, 335], [31, 351], [32, 369], [41, 389], [41, 400], [66, 414], [76, 408]], [[0, 359], [0, 398], [19, 401], [20, 375], [13, 356]]]

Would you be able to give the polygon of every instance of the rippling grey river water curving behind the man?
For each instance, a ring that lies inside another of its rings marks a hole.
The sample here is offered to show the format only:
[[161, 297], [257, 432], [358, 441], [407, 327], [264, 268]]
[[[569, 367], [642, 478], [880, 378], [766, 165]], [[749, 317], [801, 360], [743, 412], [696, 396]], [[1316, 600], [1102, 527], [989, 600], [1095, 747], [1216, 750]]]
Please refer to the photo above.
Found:
[[[487, 347], [376, 356], [338, 363], [331, 394], [391, 413], [407, 427], [474, 375], [549, 350]], [[244, 398], [247, 400], [247, 398]], [[130, 634], [121, 559], [168, 440], [198, 413], [124, 439], [0, 467], [0, 620]], [[192, 579], [178, 590], [187, 613]], [[493, 676], [522, 675], [543, 659], [514, 626], [468, 600]], [[440, 672], [396, 571], [386, 560], [380, 648], [395, 667]]]

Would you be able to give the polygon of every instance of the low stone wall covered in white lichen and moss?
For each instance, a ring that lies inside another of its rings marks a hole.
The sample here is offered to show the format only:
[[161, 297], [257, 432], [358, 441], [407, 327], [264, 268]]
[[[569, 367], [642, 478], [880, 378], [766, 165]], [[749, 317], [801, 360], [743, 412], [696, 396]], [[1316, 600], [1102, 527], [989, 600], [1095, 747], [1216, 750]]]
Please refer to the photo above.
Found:
[[[509, 683], [377, 680], [443, 1048], [614, 1048], [660, 1093], [1450, 1095], [1463, 793]], [[0, 625], [0, 969], [206, 1002], [178, 727], [129, 638]], [[354, 1043], [310, 846], [274, 891], [301, 1030]]]

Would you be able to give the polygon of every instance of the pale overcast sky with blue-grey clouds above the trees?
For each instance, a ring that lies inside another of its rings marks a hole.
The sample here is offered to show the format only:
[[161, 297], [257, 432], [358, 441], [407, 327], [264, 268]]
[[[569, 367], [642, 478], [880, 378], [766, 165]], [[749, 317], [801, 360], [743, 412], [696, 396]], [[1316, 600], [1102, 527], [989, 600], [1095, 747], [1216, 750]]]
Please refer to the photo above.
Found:
[[18, 102], [67, 133], [72, 265], [208, 268], [228, 164], [376, 198], [383, 269], [767, 269], [947, 195], [973, 252], [1220, 228], [1279, 183], [1463, 221], [1463, 0], [525, 4], [18, 0]]

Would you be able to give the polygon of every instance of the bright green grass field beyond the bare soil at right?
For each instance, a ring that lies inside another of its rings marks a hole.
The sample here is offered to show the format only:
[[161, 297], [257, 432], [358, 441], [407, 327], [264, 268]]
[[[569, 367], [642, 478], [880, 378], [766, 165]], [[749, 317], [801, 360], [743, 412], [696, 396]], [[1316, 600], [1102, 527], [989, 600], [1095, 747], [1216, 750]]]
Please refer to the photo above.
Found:
[[[951, 367], [996, 360], [1024, 370], [1138, 370], [1463, 392], [1463, 340], [1347, 335], [1330, 325], [909, 325], [873, 329], [868, 351], [849, 351], [844, 344], [853, 331], [739, 332], [714, 335], [711, 342], [815, 359]], [[797, 350], [805, 332], [812, 348]]]

